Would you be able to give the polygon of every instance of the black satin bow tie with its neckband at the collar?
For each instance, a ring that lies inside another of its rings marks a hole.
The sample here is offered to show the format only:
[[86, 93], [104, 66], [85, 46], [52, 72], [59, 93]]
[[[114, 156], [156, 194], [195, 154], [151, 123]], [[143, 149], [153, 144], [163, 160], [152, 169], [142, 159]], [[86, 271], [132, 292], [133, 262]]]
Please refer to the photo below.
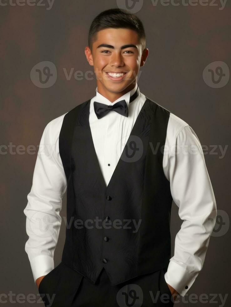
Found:
[[[130, 97], [129, 103], [132, 102], [139, 95], [139, 86], [137, 86], [136, 92]], [[115, 111], [123, 116], [128, 117], [128, 107], [126, 101], [120, 100], [116, 102], [114, 105], [106, 105], [105, 103], [100, 103], [94, 101], [94, 110], [98, 119], [104, 117], [110, 111]]]

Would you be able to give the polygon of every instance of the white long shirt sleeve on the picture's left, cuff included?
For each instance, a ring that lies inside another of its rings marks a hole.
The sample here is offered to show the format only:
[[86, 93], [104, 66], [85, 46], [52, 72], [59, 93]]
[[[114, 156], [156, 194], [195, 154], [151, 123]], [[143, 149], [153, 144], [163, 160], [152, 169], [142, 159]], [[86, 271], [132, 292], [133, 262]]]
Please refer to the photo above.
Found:
[[66, 191], [66, 176], [59, 156], [59, 132], [62, 117], [44, 129], [35, 163], [33, 182], [24, 209], [28, 254], [34, 281], [54, 268], [54, 250], [61, 226], [59, 212]]

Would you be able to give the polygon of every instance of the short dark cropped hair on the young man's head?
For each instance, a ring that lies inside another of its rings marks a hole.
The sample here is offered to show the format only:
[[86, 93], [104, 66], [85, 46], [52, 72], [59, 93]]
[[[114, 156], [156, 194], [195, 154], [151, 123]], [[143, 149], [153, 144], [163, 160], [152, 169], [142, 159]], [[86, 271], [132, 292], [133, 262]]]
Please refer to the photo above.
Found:
[[107, 28], [126, 28], [136, 31], [142, 45], [142, 52], [146, 46], [146, 35], [141, 20], [132, 13], [120, 8], [111, 8], [97, 15], [92, 21], [88, 33], [88, 46], [92, 51], [97, 32]]

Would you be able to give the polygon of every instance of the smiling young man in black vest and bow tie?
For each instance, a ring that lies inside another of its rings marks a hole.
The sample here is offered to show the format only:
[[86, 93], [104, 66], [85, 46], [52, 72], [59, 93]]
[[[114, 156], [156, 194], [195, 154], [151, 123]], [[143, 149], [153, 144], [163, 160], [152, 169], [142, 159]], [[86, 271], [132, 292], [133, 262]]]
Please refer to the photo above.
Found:
[[[96, 95], [45, 127], [24, 210], [33, 278], [46, 306], [172, 306], [201, 271], [216, 219], [201, 144], [139, 90], [148, 56], [139, 18], [104, 11], [88, 39]], [[170, 258], [172, 200], [183, 223]]]

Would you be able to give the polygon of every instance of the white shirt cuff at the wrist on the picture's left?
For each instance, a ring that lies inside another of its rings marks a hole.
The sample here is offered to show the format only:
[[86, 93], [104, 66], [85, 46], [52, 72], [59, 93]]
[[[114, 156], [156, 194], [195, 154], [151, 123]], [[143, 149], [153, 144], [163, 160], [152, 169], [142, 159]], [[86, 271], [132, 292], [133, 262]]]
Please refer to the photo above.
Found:
[[54, 269], [54, 259], [47, 255], [39, 255], [30, 260], [34, 282], [37, 278], [48, 274]]

